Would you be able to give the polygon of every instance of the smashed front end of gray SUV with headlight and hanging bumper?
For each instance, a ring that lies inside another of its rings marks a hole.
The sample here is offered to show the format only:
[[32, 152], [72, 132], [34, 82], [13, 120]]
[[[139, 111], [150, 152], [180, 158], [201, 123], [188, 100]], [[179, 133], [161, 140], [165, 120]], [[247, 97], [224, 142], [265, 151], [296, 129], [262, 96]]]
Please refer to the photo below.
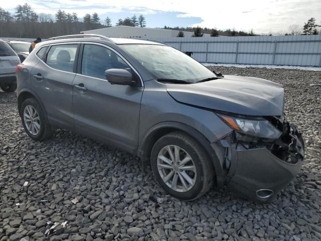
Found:
[[[301, 168], [304, 159], [301, 134], [283, 117], [269, 116], [249, 121], [250, 124], [234, 117], [231, 122], [228, 118], [222, 117], [234, 131], [212, 144], [226, 173], [225, 184], [247, 199], [272, 201]], [[257, 135], [252, 135], [254, 132]]]

